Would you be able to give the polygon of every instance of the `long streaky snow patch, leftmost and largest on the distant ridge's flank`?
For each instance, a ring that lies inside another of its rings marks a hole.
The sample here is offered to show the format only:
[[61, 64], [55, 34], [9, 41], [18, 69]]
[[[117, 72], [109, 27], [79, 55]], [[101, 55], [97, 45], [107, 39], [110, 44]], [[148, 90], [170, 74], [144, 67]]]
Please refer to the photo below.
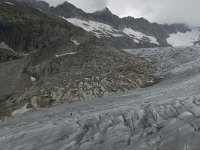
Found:
[[102, 37], [102, 36], [115, 36], [115, 37], [120, 37], [123, 36], [118, 30], [115, 30], [113, 27], [100, 23], [97, 21], [85, 21], [77, 18], [65, 18], [61, 17], [68, 22], [72, 23], [75, 26], [81, 27], [87, 32], [92, 32], [94, 33], [97, 37]]

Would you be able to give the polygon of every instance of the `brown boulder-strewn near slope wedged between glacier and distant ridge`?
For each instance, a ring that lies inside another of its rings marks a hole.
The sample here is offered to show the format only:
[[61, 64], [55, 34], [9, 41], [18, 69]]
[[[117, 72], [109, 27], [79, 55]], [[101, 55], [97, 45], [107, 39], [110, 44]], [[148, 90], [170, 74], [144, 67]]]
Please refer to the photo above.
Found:
[[0, 0], [0, 14], [0, 42], [10, 47], [3, 52], [19, 56], [0, 63], [0, 117], [25, 104], [35, 109], [95, 99], [157, 80], [146, 60], [27, 1]]

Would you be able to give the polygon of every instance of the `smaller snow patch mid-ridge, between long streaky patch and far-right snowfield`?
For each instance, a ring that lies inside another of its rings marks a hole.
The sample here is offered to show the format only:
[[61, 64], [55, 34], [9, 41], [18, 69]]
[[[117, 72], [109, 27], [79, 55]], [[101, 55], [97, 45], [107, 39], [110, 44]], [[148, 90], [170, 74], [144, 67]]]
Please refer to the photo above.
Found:
[[129, 36], [134, 37], [134, 41], [136, 40], [135, 41], [136, 43], [138, 43], [139, 40], [142, 40], [142, 41], [147, 41], [147, 42], [159, 45], [159, 43], [155, 37], [148, 36], [139, 31], [134, 31], [131, 28], [124, 28], [123, 32]]

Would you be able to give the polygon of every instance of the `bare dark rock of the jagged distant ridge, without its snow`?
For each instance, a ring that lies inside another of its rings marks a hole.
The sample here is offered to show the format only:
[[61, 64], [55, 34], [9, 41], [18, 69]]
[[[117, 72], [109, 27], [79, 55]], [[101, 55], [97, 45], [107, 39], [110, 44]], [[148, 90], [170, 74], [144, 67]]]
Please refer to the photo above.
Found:
[[[44, 2], [45, 3], [45, 2]], [[126, 44], [121, 43], [122, 46], [117, 46], [115, 43], [120, 43], [123, 41], [124, 35], [122, 38], [120, 37], [112, 37], [105, 38], [106, 41], [109, 41], [113, 46], [118, 48], [138, 48], [138, 47], [165, 47], [169, 46], [167, 43], [167, 38], [171, 33], [177, 32], [187, 32], [191, 31], [189, 27], [184, 24], [172, 24], [172, 25], [161, 25], [158, 23], [150, 23], [148, 20], [144, 18], [134, 18], [134, 17], [123, 17], [119, 18], [117, 15], [114, 15], [108, 8], [104, 8], [103, 10], [96, 11], [94, 13], [86, 13], [83, 10], [77, 8], [73, 4], [69, 2], [64, 2], [56, 7], [50, 7], [50, 12], [56, 14], [58, 16], [62, 16], [65, 18], [77, 18], [85, 21], [97, 21], [100, 23], [104, 23], [106, 25], [110, 25], [116, 30], [122, 31], [124, 28], [131, 28], [134, 31], [139, 31], [144, 33], [147, 36], [153, 36], [157, 39], [159, 45], [151, 44], [141, 40], [141, 43], [135, 43], [133, 38], [130, 36], [126, 36], [126, 40], [128, 41]], [[123, 31], [122, 31], [123, 32]], [[142, 44], [144, 42], [144, 44]], [[129, 44], [128, 44], [129, 43]], [[130, 44], [131, 43], [131, 44]]]

